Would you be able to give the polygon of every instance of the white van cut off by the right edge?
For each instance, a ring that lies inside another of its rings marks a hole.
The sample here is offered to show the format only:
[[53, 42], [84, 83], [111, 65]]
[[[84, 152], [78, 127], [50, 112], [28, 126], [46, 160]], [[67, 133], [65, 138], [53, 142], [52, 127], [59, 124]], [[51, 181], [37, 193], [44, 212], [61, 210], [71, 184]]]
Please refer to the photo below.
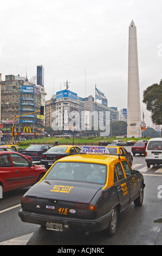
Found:
[[151, 164], [162, 164], [162, 138], [150, 139], [146, 147], [147, 167]]

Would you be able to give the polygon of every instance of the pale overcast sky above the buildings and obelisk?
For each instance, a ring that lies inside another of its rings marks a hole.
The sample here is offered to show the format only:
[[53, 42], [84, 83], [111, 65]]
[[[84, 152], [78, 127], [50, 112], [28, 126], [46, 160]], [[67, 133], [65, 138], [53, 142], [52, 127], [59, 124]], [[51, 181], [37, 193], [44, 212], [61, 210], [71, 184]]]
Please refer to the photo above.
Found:
[[44, 66], [46, 100], [70, 82], [81, 97], [105, 93], [127, 108], [128, 27], [137, 26], [141, 112], [143, 91], [162, 79], [161, 0], [0, 0], [0, 73], [36, 75]]

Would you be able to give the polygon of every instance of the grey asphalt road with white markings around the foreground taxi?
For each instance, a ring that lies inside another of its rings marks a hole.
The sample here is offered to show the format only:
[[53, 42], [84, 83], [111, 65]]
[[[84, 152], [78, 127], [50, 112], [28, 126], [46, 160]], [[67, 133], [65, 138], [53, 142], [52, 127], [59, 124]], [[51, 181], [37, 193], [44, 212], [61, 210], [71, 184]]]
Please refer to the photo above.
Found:
[[[130, 151], [131, 147], [126, 149]], [[162, 191], [160, 194], [159, 190], [159, 186], [162, 187], [162, 166], [147, 168], [145, 156], [136, 155], [133, 167], [144, 175], [144, 203], [141, 207], [132, 203], [121, 212], [113, 237], [108, 237], [106, 231], [85, 236], [80, 231], [49, 231], [40, 225], [21, 222], [18, 210], [28, 187], [5, 193], [0, 199], [0, 245], [162, 245]], [[15, 208], [11, 208], [13, 206]]]

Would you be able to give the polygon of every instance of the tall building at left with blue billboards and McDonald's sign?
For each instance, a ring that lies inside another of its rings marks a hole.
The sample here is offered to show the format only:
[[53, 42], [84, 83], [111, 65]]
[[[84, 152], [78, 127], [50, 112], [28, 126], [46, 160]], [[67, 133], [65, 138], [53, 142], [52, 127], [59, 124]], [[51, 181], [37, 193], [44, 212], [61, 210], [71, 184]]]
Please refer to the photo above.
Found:
[[[17, 79], [16, 79], [17, 78]], [[14, 75], [5, 76], [2, 81], [1, 91], [1, 124], [3, 124], [3, 137], [11, 140], [11, 126], [15, 117], [14, 126], [16, 138], [33, 138], [37, 135], [44, 135], [42, 128], [43, 121], [37, 118], [37, 114], [30, 115], [31, 112], [40, 111], [42, 96], [40, 86], [35, 86], [28, 81], [28, 77], [15, 77]], [[44, 90], [44, 89], [43, 89]], [[45, 100], [44, 100], [45, 102]], [[41, 131], [41, 132], [40, 132]]]

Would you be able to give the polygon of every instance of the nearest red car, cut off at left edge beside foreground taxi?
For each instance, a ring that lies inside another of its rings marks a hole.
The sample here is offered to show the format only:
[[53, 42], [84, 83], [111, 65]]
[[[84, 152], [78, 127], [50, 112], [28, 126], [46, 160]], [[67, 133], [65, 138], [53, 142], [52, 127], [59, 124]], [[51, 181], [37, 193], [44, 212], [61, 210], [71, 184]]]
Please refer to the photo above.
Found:
[[33, 186], [46, 169], [27, 160], [20, 153], [0, 151], [0, 198], [2, 192]]

